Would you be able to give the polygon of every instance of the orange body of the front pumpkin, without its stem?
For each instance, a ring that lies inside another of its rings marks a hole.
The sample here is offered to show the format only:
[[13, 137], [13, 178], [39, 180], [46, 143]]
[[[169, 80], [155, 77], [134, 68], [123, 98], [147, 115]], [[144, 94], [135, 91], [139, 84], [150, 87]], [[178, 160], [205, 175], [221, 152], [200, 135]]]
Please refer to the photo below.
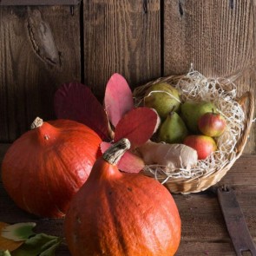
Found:
[[181, 219], [158, 181], [121, 173], [100, 158], [71, 200], [64, 233], [73, 256], [171, 256]]

